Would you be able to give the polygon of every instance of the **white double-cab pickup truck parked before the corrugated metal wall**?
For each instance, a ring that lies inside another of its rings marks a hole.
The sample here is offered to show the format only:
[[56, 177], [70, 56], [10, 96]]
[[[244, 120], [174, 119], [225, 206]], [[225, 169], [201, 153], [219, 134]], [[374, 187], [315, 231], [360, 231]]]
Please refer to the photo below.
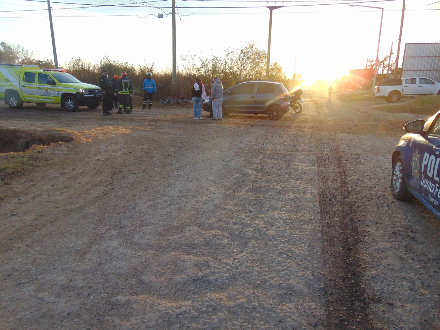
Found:
[[398, 102], [402, 96], [440, 95], [440, 83], [425, 77], [411, 77], [381, 81], [374, 86], [374, 97], [386, 102]]

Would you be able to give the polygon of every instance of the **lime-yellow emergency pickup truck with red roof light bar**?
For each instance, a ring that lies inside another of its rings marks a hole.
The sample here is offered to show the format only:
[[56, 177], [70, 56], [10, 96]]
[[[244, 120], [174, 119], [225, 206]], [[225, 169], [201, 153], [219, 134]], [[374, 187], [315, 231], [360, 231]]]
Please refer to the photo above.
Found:
[[95, 109], [103, 100], [98, 86], [83, 83], [66, 70], [26, 64], [0, 64], [0, 98], [13, 109], [33, 102], [37, 106], [60, 104], [67, 111], [79, 106]]

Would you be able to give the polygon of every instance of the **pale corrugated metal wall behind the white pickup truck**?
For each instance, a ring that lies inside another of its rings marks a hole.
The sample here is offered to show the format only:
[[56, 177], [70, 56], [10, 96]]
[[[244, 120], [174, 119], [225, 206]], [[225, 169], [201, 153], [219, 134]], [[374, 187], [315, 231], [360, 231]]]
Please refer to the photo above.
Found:
[[440, 43], [405, 44], [402, 78], [427, 77], [440, 82]]

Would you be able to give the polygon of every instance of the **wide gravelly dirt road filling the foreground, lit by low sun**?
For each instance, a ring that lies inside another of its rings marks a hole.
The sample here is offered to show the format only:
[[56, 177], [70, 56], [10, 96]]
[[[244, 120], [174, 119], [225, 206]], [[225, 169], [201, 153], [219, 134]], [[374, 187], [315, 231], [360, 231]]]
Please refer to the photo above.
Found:
[[440, 221], [389, 188], [420, 116], [303, 96], [279, 121], [0, 106], [77, 139], [4, 188], [0, 327], [439, 329]]

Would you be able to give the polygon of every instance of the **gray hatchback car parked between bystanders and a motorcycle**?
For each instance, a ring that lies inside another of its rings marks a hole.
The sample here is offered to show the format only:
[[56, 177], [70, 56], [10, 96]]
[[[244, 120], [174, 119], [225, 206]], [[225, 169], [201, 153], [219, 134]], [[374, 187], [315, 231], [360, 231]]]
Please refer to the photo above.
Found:
[[[209, 99], [205, 101], [209, 102]], [[208, 107], [203, 107], [205, 111]], [[289, 92], [282, 83], [247, 81], [223, 93], [222, 112], [227, 114], [267, 114], [278, 120], [289, 111]]]

